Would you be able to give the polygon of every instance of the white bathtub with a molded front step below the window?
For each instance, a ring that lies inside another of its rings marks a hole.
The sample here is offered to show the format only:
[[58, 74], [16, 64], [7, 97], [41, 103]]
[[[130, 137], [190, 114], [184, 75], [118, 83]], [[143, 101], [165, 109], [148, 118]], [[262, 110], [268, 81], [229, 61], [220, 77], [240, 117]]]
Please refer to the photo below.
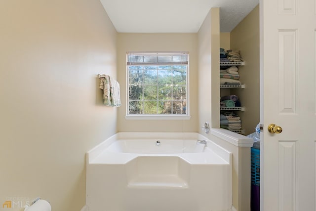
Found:
[[232, 154], [198, 133], [119, 132], [86, 158], [90, 211], [232, 210]]

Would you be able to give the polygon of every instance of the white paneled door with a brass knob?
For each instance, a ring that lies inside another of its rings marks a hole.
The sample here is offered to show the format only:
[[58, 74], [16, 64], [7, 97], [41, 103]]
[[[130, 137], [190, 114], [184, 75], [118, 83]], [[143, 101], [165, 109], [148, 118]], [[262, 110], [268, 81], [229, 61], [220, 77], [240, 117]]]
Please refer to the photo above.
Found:
[[316, 0], [260, 0], [260, 29], [261, 211], [315, 211]]

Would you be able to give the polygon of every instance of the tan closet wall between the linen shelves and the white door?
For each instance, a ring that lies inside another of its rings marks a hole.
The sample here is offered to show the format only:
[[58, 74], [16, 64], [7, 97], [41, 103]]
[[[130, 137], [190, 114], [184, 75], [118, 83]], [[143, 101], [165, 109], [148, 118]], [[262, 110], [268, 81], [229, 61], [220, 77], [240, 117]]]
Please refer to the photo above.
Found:
[[245, 89], [236, 89], [245, 112], [239, 112], [245, 135], [255, 131], [259, 123], [259, 5], [231, 32], [231, 48], [240, 50], [245, 66], [239, 67], [240, 82]]

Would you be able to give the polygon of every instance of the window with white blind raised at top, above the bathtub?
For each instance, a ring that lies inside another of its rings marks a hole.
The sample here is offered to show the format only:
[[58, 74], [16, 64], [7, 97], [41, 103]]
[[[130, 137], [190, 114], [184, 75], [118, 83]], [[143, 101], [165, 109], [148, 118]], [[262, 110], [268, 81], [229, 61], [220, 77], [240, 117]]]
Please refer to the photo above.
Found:
[[127, 116], [189, 116], [187, 52], [129, 52], [127, 72]]

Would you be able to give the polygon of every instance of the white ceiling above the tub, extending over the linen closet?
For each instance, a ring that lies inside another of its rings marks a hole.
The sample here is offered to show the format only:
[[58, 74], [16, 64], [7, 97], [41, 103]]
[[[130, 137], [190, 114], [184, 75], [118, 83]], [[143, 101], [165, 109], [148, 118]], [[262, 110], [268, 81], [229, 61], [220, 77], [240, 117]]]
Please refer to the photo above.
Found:
[[122, 33], [196, 33], [212, 7], [220, 32], [231, 32], [259, 0], [100, 0]]

